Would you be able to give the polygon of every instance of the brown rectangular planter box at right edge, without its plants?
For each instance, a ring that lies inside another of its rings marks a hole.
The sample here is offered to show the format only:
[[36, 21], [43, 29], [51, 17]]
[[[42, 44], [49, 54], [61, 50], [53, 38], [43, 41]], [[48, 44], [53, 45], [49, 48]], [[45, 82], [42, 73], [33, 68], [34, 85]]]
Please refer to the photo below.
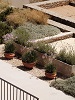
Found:
[[69, 65], [57, 59], [53, 59], [53, 64], [56, 66], [58, 73], [66, 77], [75, 75], [75, 65]]

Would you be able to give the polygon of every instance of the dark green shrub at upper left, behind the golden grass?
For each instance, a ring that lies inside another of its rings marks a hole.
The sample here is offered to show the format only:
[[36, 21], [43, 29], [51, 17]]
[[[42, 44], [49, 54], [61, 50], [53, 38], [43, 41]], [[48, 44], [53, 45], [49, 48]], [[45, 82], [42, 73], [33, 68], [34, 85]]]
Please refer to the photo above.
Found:
[[2, 11], [0, 13], [0, 21], [5, 21], [6, 16], [9, 15], [11, 12], [13, 12], [12, 7], [8, 7], [6, 10]]

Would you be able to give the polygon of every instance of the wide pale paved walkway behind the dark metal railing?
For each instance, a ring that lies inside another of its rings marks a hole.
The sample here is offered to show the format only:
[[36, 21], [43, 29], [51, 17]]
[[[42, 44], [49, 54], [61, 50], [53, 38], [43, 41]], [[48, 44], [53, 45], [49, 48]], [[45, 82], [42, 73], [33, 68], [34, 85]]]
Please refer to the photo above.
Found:
[[39, 97], [39, 100], [75, 100], [75, 98], [64, 94], [62, 91], [49, 87], [48, 83], [12, 67], [11, 64], [2, 60], [0, 60], [0, 77]]

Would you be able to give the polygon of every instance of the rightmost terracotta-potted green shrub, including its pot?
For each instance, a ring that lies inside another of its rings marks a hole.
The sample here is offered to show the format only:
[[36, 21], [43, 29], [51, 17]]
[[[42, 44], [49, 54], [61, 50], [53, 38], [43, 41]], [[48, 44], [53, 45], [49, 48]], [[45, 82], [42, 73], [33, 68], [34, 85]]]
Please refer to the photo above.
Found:
[[56, 77], [56, 67], [52, 63], [46, 65], [45, 76], [50, 79]]

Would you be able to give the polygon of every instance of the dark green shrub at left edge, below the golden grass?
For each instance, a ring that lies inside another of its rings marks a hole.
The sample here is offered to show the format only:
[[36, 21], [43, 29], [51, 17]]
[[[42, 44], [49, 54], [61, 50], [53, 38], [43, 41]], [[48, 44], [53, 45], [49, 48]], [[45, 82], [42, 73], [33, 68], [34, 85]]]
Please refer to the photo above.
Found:
[[0, 22], [0, 43], [3, 43], [2, 36], [10, 33], [12, 31], [12, 27], [8, 26], [5, 22]]

